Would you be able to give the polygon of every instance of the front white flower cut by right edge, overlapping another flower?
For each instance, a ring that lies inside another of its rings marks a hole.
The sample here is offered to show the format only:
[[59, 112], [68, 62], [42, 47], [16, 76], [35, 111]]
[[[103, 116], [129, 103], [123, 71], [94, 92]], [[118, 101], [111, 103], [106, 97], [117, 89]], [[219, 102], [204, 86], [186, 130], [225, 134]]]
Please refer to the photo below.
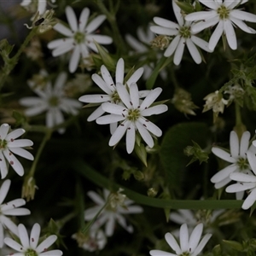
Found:
[[235, 172], [230, 174], [230, 178], [236, 181], [236, 184], [232, 184], [226, 188], [228, 193], [241, 193], [241, 191], [248, 191], [246, 200], [242, 203], [241, 208], [247, 210], [253, 206], [256, 201], [256, 156], [255, 148], [247, 151], [247, 160], [253, 170], [253, 173], [241, 173]]

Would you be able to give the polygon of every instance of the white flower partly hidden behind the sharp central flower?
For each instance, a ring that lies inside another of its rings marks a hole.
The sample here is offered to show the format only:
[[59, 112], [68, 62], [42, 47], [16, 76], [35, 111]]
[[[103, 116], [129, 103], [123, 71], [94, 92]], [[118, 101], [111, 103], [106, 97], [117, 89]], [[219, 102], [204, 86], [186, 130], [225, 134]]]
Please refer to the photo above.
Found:
[[[102, 109], [102, 102], [112, 102], [115, 104], [119, 104], [120, 98], [119, 94], [116, 90], [116, 84], [127, 84], [128, 87], [130, 87], [131, 83], [137, 83], [137, 80], [141, 78], [143, 74], [143, 67], [140, 67], [137, 69], [135, 73], [131, 75], [131, 78], [127, 80], [126, 83], [124, 83], [124, 73], [125, 73], [125, 61], [120, 58], [116, 65], [116, 71], [115, 71], [115, 83], [113, 82], [113, 79], [108, 72], [107, 67], [102, 65], [101, 67], [101, 73], [102, 77], [98, 74], [94, 73], [91, 76], [91, 79], [106, 93], [106, 94], [96, 94], [96, 95], [84, 95], [79, 97], [80, 102], [85, 103], [99, 103], [101, 104], [96, 110], [90, 114], [88, 117], [88, 121], [93, 121], [102, 116], [105, 111]], [[148, 90], [141, 90], [139, 91], [140, 97], [145, 97], [148, 95]], [[110, 124], [110, 131], [111, 134], [113, 134], [113, 131], [115, 131], [117, 127], [117, 122], [114, 122], [113, 124]]]

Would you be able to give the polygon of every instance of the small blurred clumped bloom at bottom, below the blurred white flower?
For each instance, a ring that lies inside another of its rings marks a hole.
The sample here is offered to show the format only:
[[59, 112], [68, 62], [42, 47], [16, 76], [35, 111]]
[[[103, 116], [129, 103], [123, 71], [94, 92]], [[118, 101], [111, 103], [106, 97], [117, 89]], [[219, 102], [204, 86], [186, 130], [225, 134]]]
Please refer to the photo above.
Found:
[[90, 229], [86, 235], [82, 232], [73, 234], [72, 238], [78, 242], [79, 247], [89, 252], [102, 250], [107, 243], [107, 237], [104, 232], [96, 229]]

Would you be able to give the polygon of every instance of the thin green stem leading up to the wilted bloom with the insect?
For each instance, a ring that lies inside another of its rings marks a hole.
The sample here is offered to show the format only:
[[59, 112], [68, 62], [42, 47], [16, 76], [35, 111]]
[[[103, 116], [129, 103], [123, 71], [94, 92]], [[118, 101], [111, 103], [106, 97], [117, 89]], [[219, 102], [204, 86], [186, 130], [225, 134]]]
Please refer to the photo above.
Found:
[[20, 55], [26, 48], [26, 45], [36, 35], [37, 31], [38, 31], [38, 27], [33, 28], [32, 31], [27, 35], [23, 44], [21, 44], [20, 49], [17, 51], [17, 53], [12, 58], [10, 58], [9, 61], [6, 61], [4, 63], [3, 69], [0, 73], [0, 90], [3, 88], [3, 84], [5, 83], [6, 79], [8, 78], [9, 73], [11, 73], [12, 70], [17, 65], [17, 63], [20, 59]]

